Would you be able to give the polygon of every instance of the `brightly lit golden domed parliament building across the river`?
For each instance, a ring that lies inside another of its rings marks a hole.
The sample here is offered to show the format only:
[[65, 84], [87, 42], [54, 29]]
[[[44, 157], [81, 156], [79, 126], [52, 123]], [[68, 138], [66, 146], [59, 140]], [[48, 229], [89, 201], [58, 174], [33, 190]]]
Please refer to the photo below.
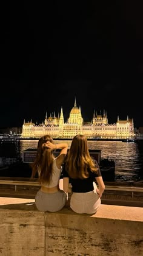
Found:
[[53, 116], [47, 116], [45, 113], [45, 120], [42, 124], [35, 124], [32, 122], [25, 122], [22, 125], [21, 138], [40, 138], [43, 135], [51, 135], [52, 138], [69, 138], [72, 139], [77, 134], [83, 134], [88, 139], [127, 139], [134, 136], [133, 118], [126, 120], [119, 119], [115, 124], [108, 124], [107, 113], [105, 110], [102, 115], [93, 112], [91, 122], [84, 123], [82, 118], [81, 107], [77, 107], [76, 99], [74, 107], [70, 111], [67, 122], [64, 121], [64, 113], [61, 107], [61, 115], [56, 117], [55, 112]]

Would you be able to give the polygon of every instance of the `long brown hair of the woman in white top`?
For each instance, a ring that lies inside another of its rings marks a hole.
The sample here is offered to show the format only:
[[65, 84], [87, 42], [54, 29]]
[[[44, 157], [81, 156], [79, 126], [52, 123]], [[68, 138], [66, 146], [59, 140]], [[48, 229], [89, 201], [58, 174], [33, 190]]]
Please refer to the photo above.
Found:
[[52, 178], [53, 154], [51, 149], [45, 147], [47, 141], [53, 143], [50, 135], [44, 135], [38, 141], [36, 158], [32, 163], [32, 178], [36, 176], [39, 169], [39, 181], [50, 183]]

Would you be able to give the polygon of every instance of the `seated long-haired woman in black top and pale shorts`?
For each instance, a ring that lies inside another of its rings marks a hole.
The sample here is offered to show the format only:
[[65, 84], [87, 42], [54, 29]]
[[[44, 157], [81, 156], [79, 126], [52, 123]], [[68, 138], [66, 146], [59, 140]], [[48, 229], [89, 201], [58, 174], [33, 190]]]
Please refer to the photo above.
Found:
[[76, 135], [71, 141], [63, 170], [63, 188], [66, 193], [69, 180], [72, 186], [71, 209], [76, 213], [96, 213], [105, 185], [98, 163], [90, 156], [84, 135]]

